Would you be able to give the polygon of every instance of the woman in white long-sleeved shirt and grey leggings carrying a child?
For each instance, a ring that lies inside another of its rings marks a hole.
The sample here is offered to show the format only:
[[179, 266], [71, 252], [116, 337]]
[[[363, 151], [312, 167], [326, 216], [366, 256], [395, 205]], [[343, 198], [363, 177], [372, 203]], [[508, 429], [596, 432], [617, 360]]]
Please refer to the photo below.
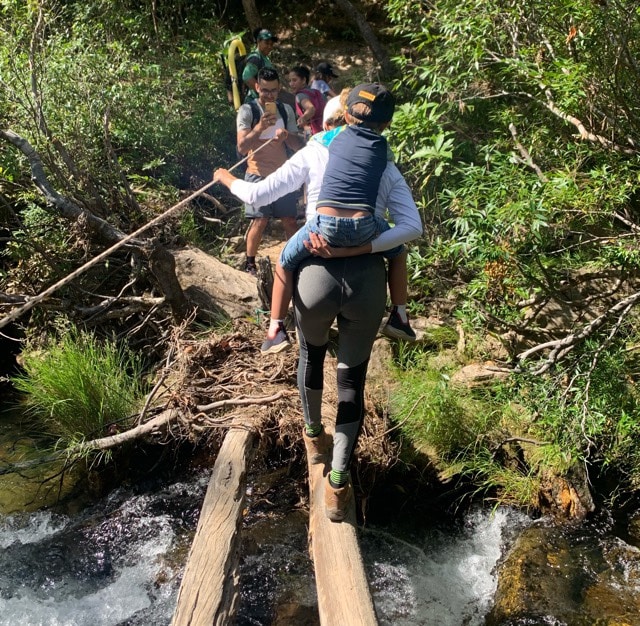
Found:
[[[331, 101], [325, 109], [328, 125], [334, 119], [332, 116], [338, 117], [340, 112], [339, 107], [330, 104]], [[248, 184], [223, 169], [216, 170], [214, 180], [228, 186], [245, 202], [258, 204], [306, 182], [309, 217], [315, 213], [328, 156], [321, 140], [312, 140], [263, 181]], [[344, 520], [353, 498], [349, 467], [364, 419], [364, 386], [371, 349], [385, 309], [384, 259], [369, 253], [389, 250], [422, 234], [411, 192], [392, 162], [387, 163], [380, 181], [376, 213], [384, 215], [387, 208], [393, 228], [358, 248], [326, 249], [322, 245], [315, 247], [318, 242], [312, 241], [310, 247], [318, 257], [303, 261], [296, 276], [293, 301], [300, 346], [298, 390], [304, 417], [303, 440], [311, 463], [325, 462], [331, 457], [324, 501], [325, 512], [333, 522]], [[354, 253], [356, 256], [352, 256]], [[406, 263], [403, 265], [406, 302]], [[284, 317], [286, 310], [272, 310], [272, 317], [274, 313]], [[323, 427], [321, 407], [324, 359], [334, 320], [338, 324], [338, 402], [332, 441]], [[284, 333], [286, 338], [281, 321], [277, 332]], [[278, 350], [271, 350], [275, 351]]]

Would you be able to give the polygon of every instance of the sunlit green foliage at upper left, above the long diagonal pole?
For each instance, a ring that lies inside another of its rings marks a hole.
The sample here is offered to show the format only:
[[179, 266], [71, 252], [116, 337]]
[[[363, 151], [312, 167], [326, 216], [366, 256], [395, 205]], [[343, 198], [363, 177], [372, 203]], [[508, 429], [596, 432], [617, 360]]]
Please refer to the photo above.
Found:
[[[126, 211], [123, 180], [151, 172], [189, 186], [229, 158], [234, 114], [217, 58], [225, 31], [210, 17], [176, 45], [181, 4], [153, 20], [113, 0], [52, 2], [40, 15], [28, 3], [3, 8], [3, 123], [38, 149], [61, 193]], [[5, 158], [0, 167], [15, 172]]]

